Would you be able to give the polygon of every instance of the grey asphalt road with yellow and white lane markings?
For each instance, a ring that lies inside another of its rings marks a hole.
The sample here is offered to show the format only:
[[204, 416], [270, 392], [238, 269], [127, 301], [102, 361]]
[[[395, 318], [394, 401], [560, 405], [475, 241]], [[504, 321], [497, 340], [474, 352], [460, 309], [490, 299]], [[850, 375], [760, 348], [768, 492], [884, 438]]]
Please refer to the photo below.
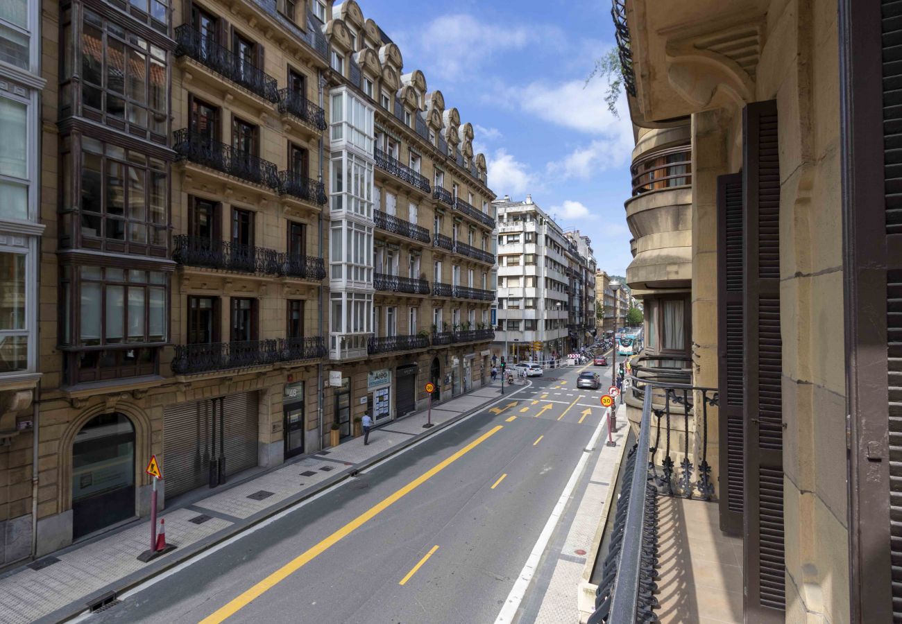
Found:
[[610, 367], [588, 367], [601, 390], [575, 388], [582, 368], [530, 378], [89, 620], [493, 622], [603, 416]]

